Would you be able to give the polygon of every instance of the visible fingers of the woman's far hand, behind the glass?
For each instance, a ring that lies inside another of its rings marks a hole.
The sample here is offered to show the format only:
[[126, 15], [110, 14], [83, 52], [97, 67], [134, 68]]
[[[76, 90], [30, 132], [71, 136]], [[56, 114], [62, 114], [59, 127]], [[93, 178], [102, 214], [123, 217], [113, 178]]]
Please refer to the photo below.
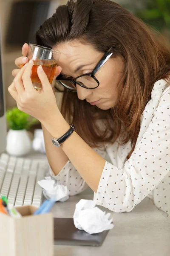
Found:
[[[23, 67], [23, 65], [28, 63], [28, 58], [26, 57], [27, 53], [28, 53], [28, 44], [24, 44], [23, 48], [22, 48], [23, 56], [19, 57], [19, 58], [16, 58], [16, 60], [15, 60], [15, 65], [17, 67], [19, 67], [19, 69], [12, 70], [12, 76], [14, 76], [14, 77], [17, 76], [17, 74], [20, 72], [20, 69]], [[51, 84], [53, 92], [55, 92], [54, 91], [54, 86], [55, 86], [56, 77], [60, 74], [60, 72], [61, 72], [61, 67], [57, 67], [57, 71], [54, 74], [54, 79], [53, 79], [52, 84]]]

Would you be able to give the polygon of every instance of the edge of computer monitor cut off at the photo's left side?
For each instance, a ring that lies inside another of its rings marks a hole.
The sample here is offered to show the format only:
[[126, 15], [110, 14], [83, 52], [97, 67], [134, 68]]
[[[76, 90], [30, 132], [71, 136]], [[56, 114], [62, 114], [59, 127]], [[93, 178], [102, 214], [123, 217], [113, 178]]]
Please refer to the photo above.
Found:
[[2, 70], [2, 38], [0, 26], [0, 154], [6, 149], [5, 87]]

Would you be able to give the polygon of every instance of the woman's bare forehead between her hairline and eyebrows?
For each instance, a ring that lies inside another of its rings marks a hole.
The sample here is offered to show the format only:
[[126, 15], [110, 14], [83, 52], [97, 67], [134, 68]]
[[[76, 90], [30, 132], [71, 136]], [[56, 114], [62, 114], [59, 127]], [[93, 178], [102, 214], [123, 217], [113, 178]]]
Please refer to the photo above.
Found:
[[53, 47], [53, 49], [61, 52], [59, 57], [60, 66], [65, 64], [76, 64], [77, 61], [86, 64], [95, 61], [102, 56], [102, 53], [98, 52], [91, 44], [82, 44], [79, 41], [61, 43]]

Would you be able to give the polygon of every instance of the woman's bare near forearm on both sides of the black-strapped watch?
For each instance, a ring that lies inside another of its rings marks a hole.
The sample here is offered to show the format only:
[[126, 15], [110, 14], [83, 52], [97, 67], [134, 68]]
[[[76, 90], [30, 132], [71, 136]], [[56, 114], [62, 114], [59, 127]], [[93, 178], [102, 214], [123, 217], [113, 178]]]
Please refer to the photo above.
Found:
[[[48, 122], [44, 122], [43, 125], [52, 136], [58, 138], [70, 128], [59, 111], [55, 116], [50, 116]], [[105, 159], [90, 148], [76, 132], [73, 132], [61, 147], [81, 177], [91, 189], [96, 191], [105, 166]]]

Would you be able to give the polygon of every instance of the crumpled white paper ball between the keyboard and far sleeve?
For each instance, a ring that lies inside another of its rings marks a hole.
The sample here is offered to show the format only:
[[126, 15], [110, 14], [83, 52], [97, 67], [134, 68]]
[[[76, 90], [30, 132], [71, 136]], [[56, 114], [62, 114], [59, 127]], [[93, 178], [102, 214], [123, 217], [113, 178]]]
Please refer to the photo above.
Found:
[[47, 199], [55, 195], [56, 201], [64, 202], [69, 198], [67, 186], [61, 185], [58, 180], [53, 180], [50, 176], [38, 181], [38, 184], [42, 187], [43, 195]]

